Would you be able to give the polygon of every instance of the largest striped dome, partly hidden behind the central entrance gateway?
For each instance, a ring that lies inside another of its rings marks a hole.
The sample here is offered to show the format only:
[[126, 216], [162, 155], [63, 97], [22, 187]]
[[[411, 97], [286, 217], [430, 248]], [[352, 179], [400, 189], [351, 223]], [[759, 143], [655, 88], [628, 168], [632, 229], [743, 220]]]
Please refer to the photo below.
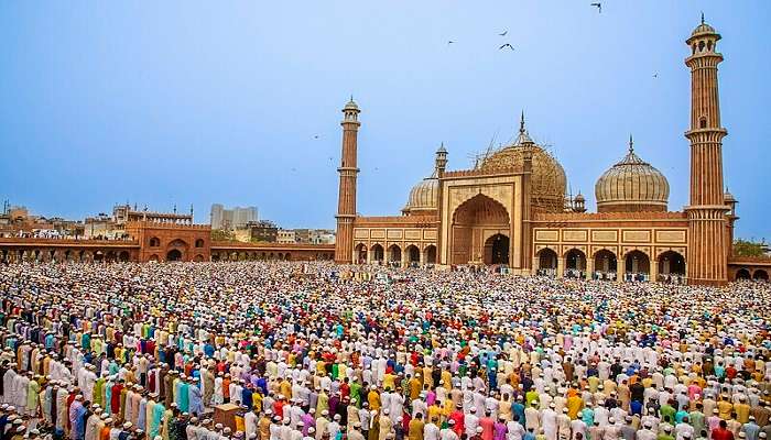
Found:
[[520, 134], [513, 144], [504, 146], [477, 164], [478, 169], [496, 170], [520, 168], [524, 163], [525, 148], [533, 153], [531, 177], [532, 206], [539, 211], [562, 212], [565, 209], [565, 169], [543, 147], [533, 143], [521, 122]]

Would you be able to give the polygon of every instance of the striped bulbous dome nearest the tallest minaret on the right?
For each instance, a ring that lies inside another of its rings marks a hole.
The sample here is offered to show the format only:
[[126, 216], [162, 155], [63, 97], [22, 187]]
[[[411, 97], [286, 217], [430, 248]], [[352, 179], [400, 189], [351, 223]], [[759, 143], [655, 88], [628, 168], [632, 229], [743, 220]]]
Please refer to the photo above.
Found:
[[610, 167], [595, 185], [599, 212], [666, 211], [670, 184], [660, 170], [629, 152]]

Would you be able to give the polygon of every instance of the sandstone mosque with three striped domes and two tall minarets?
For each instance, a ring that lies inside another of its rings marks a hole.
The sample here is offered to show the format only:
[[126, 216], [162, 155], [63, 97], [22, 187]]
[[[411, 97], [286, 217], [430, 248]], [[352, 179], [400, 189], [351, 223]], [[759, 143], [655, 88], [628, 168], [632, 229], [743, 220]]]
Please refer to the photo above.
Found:
[[510, 144], [480, 156], [471, 169], [447, 169], [436, 151], [434, 172], [410, 191], [400, 216], [356, 211], [360, 109], [343, 109], [337, 209], [338, 263], [500, 265], [518, 275], [672, 280], [724, 285], [768, 279], [768, 262], [731, 255], [737, 200], [723, 185], [717, 52], [720, 35], [702, 23], [686, 40], [692, 111], [689, 204], [670, 210], [666, 177], [634, 152], [597, 179], [597, 212], [566, 197], [560, 162], [529, 136], [524, 114]]

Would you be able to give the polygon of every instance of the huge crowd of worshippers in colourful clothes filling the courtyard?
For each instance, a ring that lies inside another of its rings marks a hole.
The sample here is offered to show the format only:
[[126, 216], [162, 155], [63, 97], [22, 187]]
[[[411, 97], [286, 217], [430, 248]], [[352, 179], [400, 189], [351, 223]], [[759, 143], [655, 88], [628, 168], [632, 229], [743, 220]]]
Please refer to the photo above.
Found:
[[48, 263], [0, 292], [0, 440], [771, 440], [765, 283]]

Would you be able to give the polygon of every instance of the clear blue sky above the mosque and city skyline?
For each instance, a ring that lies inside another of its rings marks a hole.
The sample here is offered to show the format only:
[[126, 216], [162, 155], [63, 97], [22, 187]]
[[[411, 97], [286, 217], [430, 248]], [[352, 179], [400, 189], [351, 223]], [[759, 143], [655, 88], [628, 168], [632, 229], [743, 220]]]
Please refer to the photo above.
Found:
[[333, 227], [339, 110], [352, 94], [363, 215], [398, 213], [441, 142], [450, 169], [471, 166], [492, 138], [512, 139], [522, 109], [591, 209], [597, 177], [632, 133], [680, 210], [684, 40], [704, 11], [724, 36], [737, 233], [771, 239], [771, 2], [606, 0], [601, 13], [589, 3], [7, 1], [0, 197], [68, 218], [126, 200], [193, 204], [200, 222], [213, 202], [254, 205], [284, 227]]

